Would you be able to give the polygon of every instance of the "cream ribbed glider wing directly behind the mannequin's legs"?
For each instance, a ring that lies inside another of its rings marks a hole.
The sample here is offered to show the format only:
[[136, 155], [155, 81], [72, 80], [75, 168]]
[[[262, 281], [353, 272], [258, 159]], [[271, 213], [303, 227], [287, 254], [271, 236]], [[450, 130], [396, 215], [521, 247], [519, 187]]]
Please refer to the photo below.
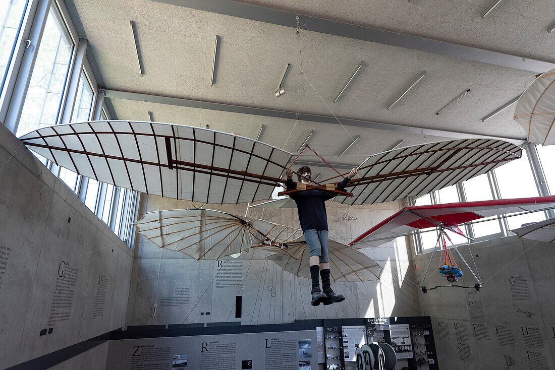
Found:
[[[330, 278], [332, 281], [364, 282], [380, 280], [380, 273], [383, 268], [369, 256], [332, 239], [329, 240], [328, 246]], [[310, 278], [310, 248], [306, 245], [304, 236], [289, 243], [287, 252], [289, 253], [277, 251], [266, 258], [274, 261], [283, 270], [289, 271], [295, 276]]]

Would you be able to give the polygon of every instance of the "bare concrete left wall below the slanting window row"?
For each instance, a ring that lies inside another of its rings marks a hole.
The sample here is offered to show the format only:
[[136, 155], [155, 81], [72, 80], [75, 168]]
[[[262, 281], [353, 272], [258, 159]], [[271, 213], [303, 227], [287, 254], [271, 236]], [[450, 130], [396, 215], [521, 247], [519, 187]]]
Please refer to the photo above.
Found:
[[1, 367], [122, 327], [132, 261], [129, 247], [0, 125]]

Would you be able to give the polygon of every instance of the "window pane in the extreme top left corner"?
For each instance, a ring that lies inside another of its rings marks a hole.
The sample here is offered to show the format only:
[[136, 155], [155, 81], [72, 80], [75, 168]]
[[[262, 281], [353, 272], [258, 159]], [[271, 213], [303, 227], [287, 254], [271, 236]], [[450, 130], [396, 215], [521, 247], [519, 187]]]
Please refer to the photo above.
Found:
[[[6, 81], [6, 72], [11, 63], [16, 40], [21, 31], [23, 14], [27, 9], [27, 0], [3, 0], [0, 1], [0, 87]], [[2, 88], [0, 88], [0, 91]]]

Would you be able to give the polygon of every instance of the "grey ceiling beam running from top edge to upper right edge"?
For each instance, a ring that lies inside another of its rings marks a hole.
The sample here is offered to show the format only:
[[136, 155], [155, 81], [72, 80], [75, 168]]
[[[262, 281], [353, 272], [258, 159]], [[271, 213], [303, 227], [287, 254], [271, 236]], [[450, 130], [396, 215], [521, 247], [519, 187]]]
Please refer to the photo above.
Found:
[[[517, 57], [516, 55], [493, 52], [492, 50], [472, 48], [465, 45], [411, 36], [381, 29], [357, 26], [329, 19], [305, 16], [292, 12], [271, 9], [253, 4], [233, 0], [154, 0], [160, 3], [172, 4], [191, 9], [198, 9], [211, 13], [224, 14], [238, 18], [251, 19], [252, 21], [278, 24], [279, 26], [296, 28], [296, 16], [303, 29], [335, 36], [347, 37], [357, 40], [375, 42], [379, 44], [397, 46], [401, 48], [420, 50], [422, 52], [448, 55], [450, 57], [473, 60], [503, 67], [529, 70], [543, 73], [555, 68], [555, 63], [542, 60]], [[310, 20], [310, 22], [309, 22]]]

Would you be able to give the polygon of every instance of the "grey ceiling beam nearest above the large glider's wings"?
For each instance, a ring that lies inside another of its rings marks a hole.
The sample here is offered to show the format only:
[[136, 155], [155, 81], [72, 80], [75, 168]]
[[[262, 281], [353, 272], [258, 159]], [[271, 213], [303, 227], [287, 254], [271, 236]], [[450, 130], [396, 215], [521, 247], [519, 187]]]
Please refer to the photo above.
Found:
[[282, 110], [266, 109], [266, 108], [245, 107], [243, 105], [204, 102], [203, 100], [165, 97], [163, 95], [134, 93], [134, 92], [128, 92], [124, 90], [112, 90], [112, 89], [105, 89], [105, 88], [99, 88], [99, 90], [102, 90], [105, 94], [105, 98], [108, 98], [108, 99], [135, 100], [137, 102], [167, 104], [167, 105], [175, 105], [178, 107], [218, 110], [218, 111], [226, 111], [230, 113], [251, 114], [251, 115], [258, 115], [258, 116], [265, 116], [265, 117], [276, 117], [279, 115], [280, 118], [284, 118], [284, 119], [292, 119], [292, 120], [299, 119], [300, 121], [329, 123], [334, 125], [342, 124], [345, 126], [355, 126], [355, 127], [362, 127], [367, 129], [397, 131], [405, 134], [440, 136], [442, 138], [454, 138], [454, 139], [490, 138], [490, 139], [510, 141], [511, 143], [514, 143], [517, 145], [522, 145], [526, 142], [526, 140], [520, 139], [520, 138], [505, 138], [505, 137], [490, 136], [490, 135], [477, 135], [477, 134], [464, 133], [461, 131], [436, 130], [436, 129], [428, 129], [428, 128], [422, 128], [422, 127], [415, 127], [415, 126], [405, 126], [405, 125], [392, 124], [392, 123], [381, 123], [381, 122], [375, 122], [375, 121], [364, 121], [364, 120], [341, 118], [341, 117], [335, 118], [334, 116], [307, 114], [302, 112], [297, 113], [294, 111], [282, 111]]

